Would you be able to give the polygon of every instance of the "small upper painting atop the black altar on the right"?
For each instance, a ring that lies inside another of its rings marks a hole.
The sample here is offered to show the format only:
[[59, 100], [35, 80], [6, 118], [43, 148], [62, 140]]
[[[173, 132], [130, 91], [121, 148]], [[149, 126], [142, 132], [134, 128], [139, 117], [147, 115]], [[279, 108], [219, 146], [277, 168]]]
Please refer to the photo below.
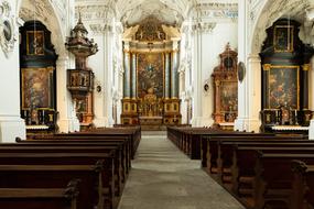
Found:
[[293, 25], [277, 25], [273, 45], [274, 52], [293, 52]]

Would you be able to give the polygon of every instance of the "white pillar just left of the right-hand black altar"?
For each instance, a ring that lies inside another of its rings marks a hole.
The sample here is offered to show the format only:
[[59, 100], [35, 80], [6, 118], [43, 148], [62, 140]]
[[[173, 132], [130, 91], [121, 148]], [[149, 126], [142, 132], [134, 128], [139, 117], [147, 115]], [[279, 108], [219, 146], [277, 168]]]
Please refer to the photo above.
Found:
[[249, 2], [238, 2], [238, 61], [247, 66], [242, 82], [238, 82], [238, 118], [235, 130], [259, 132], [261, 110], [261, 64], [259, 55], [249, 55]]

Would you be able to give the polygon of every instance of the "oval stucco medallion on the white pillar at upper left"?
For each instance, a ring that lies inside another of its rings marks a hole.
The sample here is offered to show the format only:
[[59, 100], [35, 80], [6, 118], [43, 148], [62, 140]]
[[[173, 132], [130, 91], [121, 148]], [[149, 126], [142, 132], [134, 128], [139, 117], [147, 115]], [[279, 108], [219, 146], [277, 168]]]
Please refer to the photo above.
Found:
[[9, 57], [14, 48], [14, 19], [8, 1], [0, 4], [0, 45], [6, 56]]

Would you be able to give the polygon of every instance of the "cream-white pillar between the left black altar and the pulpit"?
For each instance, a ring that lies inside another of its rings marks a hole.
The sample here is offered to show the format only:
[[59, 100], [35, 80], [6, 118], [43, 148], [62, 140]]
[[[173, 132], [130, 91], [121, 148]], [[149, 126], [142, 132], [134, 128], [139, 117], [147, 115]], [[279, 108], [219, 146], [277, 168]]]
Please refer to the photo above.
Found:
[[76, 118], [74, 102], [66, 87], [67, 57], [59, 57], [56, 62], [57, 111], [59, 132], [79, 131], [79, 121]]

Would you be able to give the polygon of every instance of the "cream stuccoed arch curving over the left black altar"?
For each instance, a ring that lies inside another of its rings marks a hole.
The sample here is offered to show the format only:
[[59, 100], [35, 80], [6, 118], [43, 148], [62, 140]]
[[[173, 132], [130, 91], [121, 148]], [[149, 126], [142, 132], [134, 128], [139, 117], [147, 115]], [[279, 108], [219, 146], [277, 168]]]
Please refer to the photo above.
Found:
[[[63, 25], [65, 22], [62, 22], [62, 16], [57, 13], [55, 3], [48, 0], [40, 0], [36, 1], [36, 3], [41, 10], [36, 9], [35, 19], [41, 21], [52, 32], [52, 34], [61, 34], [62, 38], [59, 38], [59, 35], [52, 35], [52, 43], [55, 47], [56, 54], [58, 54], [59, 57], [66, 57], [67, 52], [64, 47], [66, 28]], [[18, 0], [17, 7], [19, 18], [23, 21], [34, 20], [34, 6], [29, 0]], [[47, 11], [47, 9], [50, 10]], [[63, 21], [66, 20], [64, 19]]]

